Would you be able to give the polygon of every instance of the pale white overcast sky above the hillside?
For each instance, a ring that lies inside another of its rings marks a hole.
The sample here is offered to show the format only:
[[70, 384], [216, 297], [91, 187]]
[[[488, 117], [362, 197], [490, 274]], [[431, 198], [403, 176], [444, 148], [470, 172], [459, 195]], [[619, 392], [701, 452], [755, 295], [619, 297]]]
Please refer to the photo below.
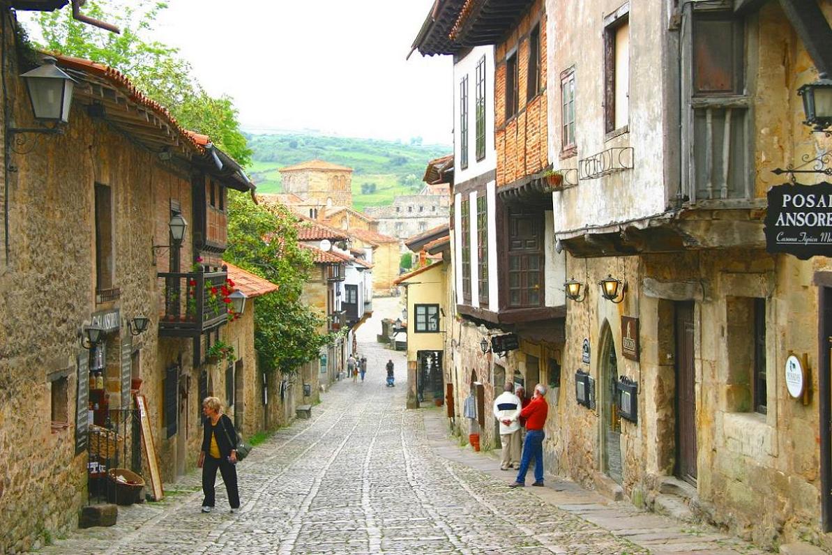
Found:
[[181, 49], [248, 131], [453, 142], [452, 62], [405, 62], [433, 0], [171, 0], [157, 37]]

